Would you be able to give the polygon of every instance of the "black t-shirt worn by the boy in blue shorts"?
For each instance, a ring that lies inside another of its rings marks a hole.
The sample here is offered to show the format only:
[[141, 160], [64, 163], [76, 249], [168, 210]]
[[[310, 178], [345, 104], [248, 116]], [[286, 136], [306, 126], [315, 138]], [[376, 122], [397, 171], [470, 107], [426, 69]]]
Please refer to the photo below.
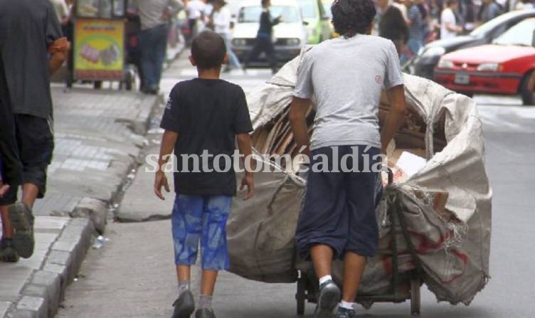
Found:
[[[245, 93], [240, 86], [225, 80], [199, 78], [176, 84], [169, 95], [161, 128], [179, 133], [174, 149], [179, 171], [174, 174], [177, 194], [236, 194], [233, 159], [230, 166], [228, 159], [214, 159], [219, 154], [232, 158], [235, 135], [253, 131]], [[186, 160], [182, 155], [198, 157], [198, 172], [194, 172], [194, 159]], [[187, 171], [184, 171], [184, 163]], [[214, 164], [218, 171], [230, 169], [218, 172]], [[209, 172], [208, 169], [214, 170]]]

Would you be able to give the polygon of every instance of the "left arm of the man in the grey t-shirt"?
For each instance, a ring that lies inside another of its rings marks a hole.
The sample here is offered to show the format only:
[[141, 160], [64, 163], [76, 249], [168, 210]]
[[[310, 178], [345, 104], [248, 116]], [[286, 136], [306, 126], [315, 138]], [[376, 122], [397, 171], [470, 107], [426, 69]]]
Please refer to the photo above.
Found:
[[310, 136], [307, 127], [307, 112], [310, 107], [310, 100], [306, 98], [294, 97], [292, 104], [290, 104], [290, 125], [294, 133], [295, 143], [297, 149], [302, 151], [302, 154], [310, 158]]

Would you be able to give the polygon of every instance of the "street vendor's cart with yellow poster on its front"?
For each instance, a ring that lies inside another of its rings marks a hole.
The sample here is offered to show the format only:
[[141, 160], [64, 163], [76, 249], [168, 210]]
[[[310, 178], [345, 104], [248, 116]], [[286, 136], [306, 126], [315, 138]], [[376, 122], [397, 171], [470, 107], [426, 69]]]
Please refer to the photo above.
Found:
[[73, 34], [74, 81], [115, 81], [127, 90], [134, 86], [136, 72], [127, 63], [125, 23], [127, 0], [78, 0]]

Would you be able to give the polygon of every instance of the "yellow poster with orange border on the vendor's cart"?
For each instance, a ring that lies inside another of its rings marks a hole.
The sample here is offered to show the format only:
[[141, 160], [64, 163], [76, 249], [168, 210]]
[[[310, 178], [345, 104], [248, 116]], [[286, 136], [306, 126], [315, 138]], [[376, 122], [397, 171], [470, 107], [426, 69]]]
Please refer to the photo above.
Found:
[[122, 20], [79, 18], [75, 23], [75, 77], [122, 80], [125, 63]]

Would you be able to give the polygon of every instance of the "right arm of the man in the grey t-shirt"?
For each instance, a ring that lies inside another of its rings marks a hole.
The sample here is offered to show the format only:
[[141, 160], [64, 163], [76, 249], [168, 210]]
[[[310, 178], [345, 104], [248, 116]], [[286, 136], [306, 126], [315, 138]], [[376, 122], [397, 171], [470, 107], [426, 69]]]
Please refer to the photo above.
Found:
[[381, 152], [386, 154], [386, 147], [390, 143], [394, 134], [398, 132], [399, 127], [405, 120], [405, 89], [403, 85], [395, 86], [386, 91], [388, 102], [390, 102], [390, 111], [386, 116], [386, 120], [383, 124], [381, 131]]

